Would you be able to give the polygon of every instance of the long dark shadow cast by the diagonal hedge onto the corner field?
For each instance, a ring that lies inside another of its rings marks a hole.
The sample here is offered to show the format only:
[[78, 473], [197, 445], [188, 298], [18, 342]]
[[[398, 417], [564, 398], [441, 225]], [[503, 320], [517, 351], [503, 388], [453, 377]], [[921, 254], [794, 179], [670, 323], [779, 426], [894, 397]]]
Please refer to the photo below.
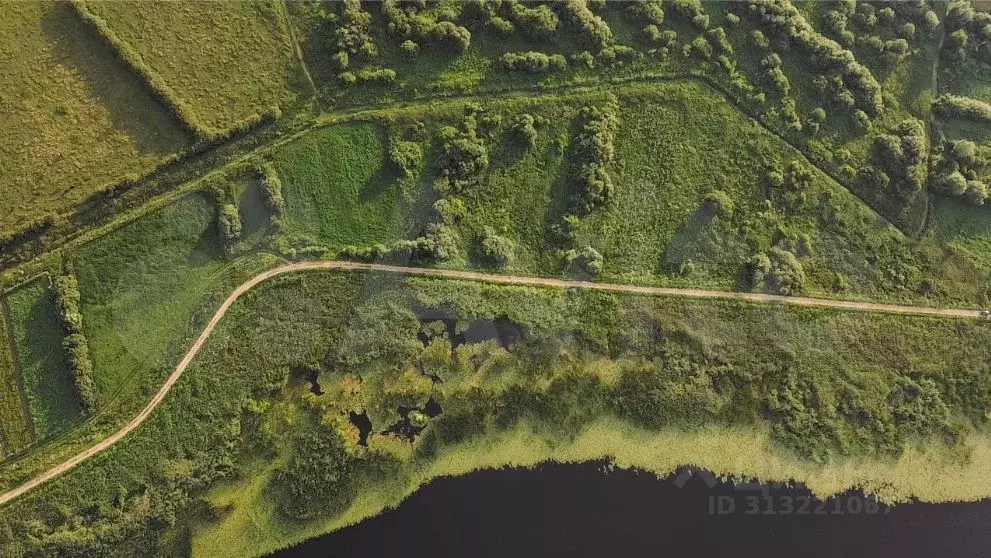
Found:
[[89, 98], [106, 109], [114, 129], [126, 134], [140, 153], [164, 156], [192, 143], [184, 125], [68, 3], [49, 7], [41, 29], [55, 61], [82, 78]]

